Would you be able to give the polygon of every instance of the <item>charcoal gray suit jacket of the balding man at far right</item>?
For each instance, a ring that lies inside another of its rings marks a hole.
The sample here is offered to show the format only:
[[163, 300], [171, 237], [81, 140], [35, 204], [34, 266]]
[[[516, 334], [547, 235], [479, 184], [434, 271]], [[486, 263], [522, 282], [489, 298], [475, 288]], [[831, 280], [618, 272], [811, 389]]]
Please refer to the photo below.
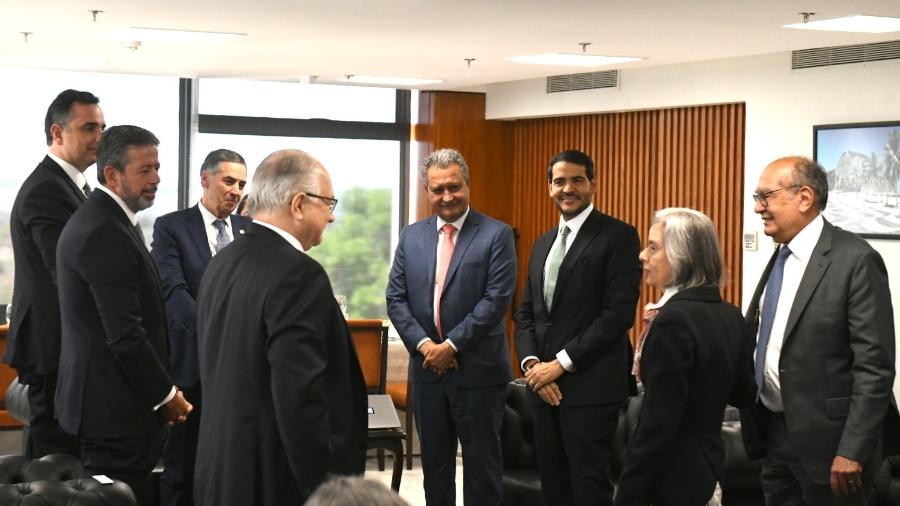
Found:
[[[747, 310], [754, 335], [774, 258]], [[788, 316], [779, 361], [791, 444], [814, 482], [829, 483], [836, 455], [880, 465], [872, 460], [882, 436], [896, 441], [894, 346], [884, 261], [866, 241], [825, 221]], [[742, 413], [751, 457], [765, 455], [764, 427], [759, 404]]]

